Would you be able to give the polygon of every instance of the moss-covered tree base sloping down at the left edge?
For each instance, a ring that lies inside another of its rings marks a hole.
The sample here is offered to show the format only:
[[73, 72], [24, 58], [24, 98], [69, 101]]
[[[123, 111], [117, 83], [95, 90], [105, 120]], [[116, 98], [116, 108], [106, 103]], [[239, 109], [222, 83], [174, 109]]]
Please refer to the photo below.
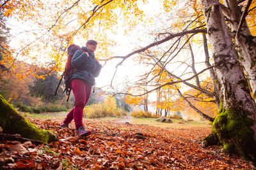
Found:
[[17, 111], [0, 95], [0, 127], [4, 133], [20, 134], [23, 138], [49, 143], [58, 141], [58, 136], [40, 129], [20, 116]]

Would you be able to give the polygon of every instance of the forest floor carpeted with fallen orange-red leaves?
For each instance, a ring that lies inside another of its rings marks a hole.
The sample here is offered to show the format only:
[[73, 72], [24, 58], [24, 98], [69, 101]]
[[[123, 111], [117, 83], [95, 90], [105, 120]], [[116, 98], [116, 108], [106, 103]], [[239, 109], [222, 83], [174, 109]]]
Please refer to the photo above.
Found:
[[74, 122], [70, 129], [60, 129], [63, 118], [27, 119], [60, 140], [49, 145], [1, 141], [2, 169], [253, 169], [237, 155], [220, 152], [219, 146], [202, 147], [209, 125], [157, 127], [132, 124], [134, 120], [84, 119], [93, 132], [85, 138], [77, 136]]

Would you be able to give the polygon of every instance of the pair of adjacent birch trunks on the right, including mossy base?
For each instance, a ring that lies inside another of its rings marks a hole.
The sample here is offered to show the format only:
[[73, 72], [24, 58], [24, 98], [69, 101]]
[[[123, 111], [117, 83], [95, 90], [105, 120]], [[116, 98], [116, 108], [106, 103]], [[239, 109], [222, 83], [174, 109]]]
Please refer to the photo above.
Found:
[[[256, 41], [252, 38], [248, 26], [243, 24], [240, 36], [236, 36], [237, 54], [227, 24], [217, 0], [201, 0], [207, 34], [212, 47], [216, 85], [220, 98], [220, 109], [212, 123], [211, 138], [205, 138], [210, 144], [212, 136], [218, 140], [227, 152], [238, 153], [256, 164], [256, 106], [249, 87], [255, 93], [255, 54]], [[241, 14], [236, 1], [226, 1], [232, 29], [237, 30]], [[236, 10], [234, 10], [236, 8]], [[238, 14], [239, 13], [239, 14]], [[239, 35], [239, 34], [238, 34]], [[252, 43], [253, 42], [253, 43]], [[238, 57], [239, 55], [239, 57]], [[243, 58], [243, 59], [241, 59]], [[239, 63], [240, 61], [240, 63]], [[250, 86], [241, 70], [244, 66], [250, 79]]]

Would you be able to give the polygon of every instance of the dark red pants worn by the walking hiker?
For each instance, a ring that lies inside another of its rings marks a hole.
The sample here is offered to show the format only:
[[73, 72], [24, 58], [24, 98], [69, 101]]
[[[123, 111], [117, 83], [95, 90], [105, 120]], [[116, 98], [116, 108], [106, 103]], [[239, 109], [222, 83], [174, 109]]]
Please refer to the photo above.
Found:
[[78, 130], [79, 127], [83, 126], [83, 109], [90, 98], [92, 86], [88, 85], [83, 80], [75, 79], [72, 80], [72, 91], [75, 96], [76, 104], [68, 113], [63, 123], [69, 124], [74, 119], [76, 130]]

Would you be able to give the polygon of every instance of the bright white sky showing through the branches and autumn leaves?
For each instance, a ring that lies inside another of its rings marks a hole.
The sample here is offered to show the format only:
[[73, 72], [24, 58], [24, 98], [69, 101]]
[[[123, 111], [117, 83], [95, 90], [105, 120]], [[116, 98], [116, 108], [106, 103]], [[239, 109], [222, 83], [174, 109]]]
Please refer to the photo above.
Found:
[[[159, 1], [155, 0], [148, 0], [148, 4], [139, 4], [140, 9], [143, 10], [148, 18], [157, 18], [159, 17], [159, 13], [161, 13], [161, 6], [159, 5]], [[122, 18], [120, 18], [122, 20]], [[17, 32], [20, 31], [28, 31], [29, 25], [32, 25], [31, 23], [26, 24], [20, 24], [17, 22], [17, 20], [10, 20], [10, 27], [12, 28], [11, 33], [17, 34]], [[154, 28], [157, 27], [157, 20], [153, 21]], [[36, 29], [36, 28], [33, 28]], [[150, 30], [150, 27], [147, 28]], [[134, 27], [133, 30], [134, 34], [131, 34], [132, 36], [126, 36], [124, 34], [124, 29], [122, 27], [118, 27], [118, 33], [117, 34], [109, 34], [111, 39], [115, 40], [118, 45], [113, 46], [111, 50], [113, 50], [113, 55], [119, 55], [124, 56], [128, 53], [131, 53], [134, 48], [138, 46], [147, 46], [148, 44], [152, 43], [152, 37], [150, 36], [143, 36], [143, 32], [147, 32], [147, 30], [144, 30], [143, 27], [140, 25], [138, 27]], [[138, 34], [140, 35], [140, 41], [138, 41]], [[26, 39], [26, 41], [31, 41], [33, 39], [33, 34], [31, 36], [22, 36], [22, 34], [19, 34], [16, 38], [20, 39]], [[11, 45], [13, 46], [19, 46], [19, 43], [17, 43], [17, 39], [12, 39]], [[81, 45], [81, 41], [79, 39], [74, 39], [74, 43], [77, 45]], [[97, 55], [97, 51], [95, 52]], [[36, 53], [38, 55], [38, 53]], [[40, 56], [40, 54], [39, 54]], [[136, 57], [137, 55], [134, 55], [131, 57], [131, 59], [125, 60], [125, 62], [122, 64], [122, 66], [118, 67], [118, 72], [115, 76], [115, 79], [113, 81], [113, 87], [115, 90], [124, 92], [125, 90], [125, 82], [126, 81], [134, 81], [138, 79], [138, 76], [143, 74], [143, 70], [147, 69], [145, 67], [142, 67], [140, 65], [135, 65], [132, 61], [132, 58]], [[44, 56], [40, 56], [39, 60], [43, 60]], [[111, 80], [113, 78], [113, 73], [115, 72], [115, 66], [118, 62], [120, 62], [120, 59], [114, 59], [111, 60], [106, 64], [106, 66], [102, 67], [102, 71], [100, 73], [100, 76], [96, 78], [96, 87], [102, 88], [103, 90], [109, 90], [109, 87], [106, 87], [107, 85], [110, 85]], [[29, 62], [29, 61], [28, 61]], [[31, 61], [33, 62], [33, 61]], [[102, 63], [102, 65], [104, 62]], [[154, 96], [154, 94], [152, 94]], [[152, 97], [154, 98], [154, 97]]]

